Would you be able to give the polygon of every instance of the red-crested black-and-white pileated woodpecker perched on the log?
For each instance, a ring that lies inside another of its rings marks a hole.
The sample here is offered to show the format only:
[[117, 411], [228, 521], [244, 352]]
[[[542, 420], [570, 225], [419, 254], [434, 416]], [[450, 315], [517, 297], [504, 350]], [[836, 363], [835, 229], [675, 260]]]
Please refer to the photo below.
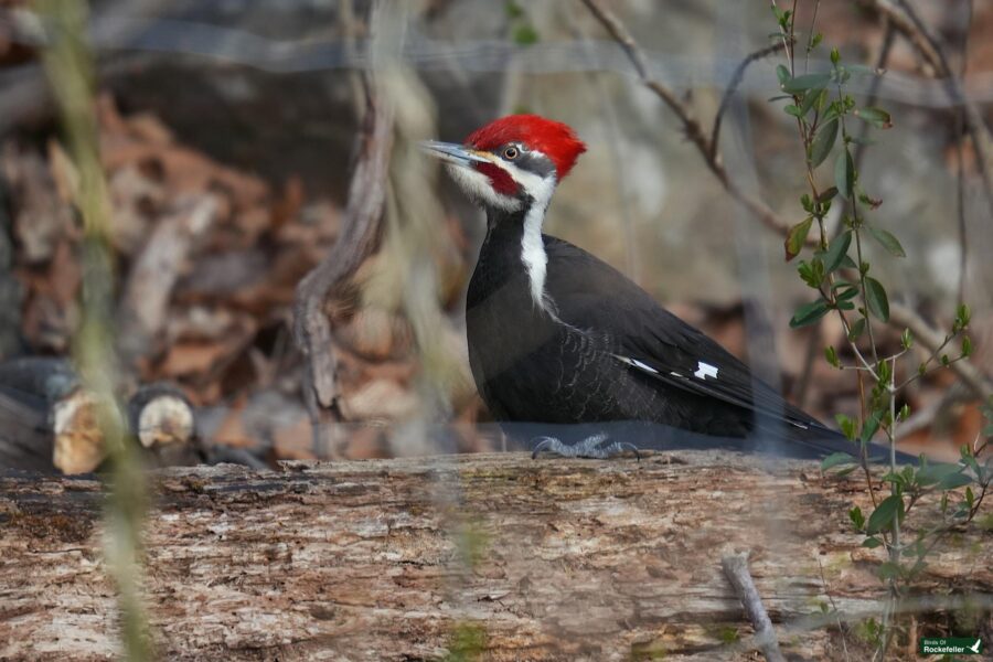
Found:
[[724, 438], [761, 430], [801, 455], [853, 449], [622, 274], [542, 234], [555, 186], [586, 151], [568, 126], [513, 115], [465, 145], [424, 148], [487, 212], [466, 302], [480, 395], [501, 424], [588, 424], [576, 444], [537, 437], [535, 455], [607, 457], [632, 446], [609, 436], [618, 421]]

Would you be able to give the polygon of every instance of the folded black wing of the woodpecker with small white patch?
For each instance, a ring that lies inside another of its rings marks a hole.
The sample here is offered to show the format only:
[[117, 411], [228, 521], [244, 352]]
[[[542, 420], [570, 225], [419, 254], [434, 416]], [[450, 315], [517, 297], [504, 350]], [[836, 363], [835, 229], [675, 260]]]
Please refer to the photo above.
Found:
[[719, 344], [610, 265], [545, 236], [545, 289], [562, 321], [611, 339], [618, 361], [668, 386], [716, 398], [798, 428], [828, 429], [790, 405]]

